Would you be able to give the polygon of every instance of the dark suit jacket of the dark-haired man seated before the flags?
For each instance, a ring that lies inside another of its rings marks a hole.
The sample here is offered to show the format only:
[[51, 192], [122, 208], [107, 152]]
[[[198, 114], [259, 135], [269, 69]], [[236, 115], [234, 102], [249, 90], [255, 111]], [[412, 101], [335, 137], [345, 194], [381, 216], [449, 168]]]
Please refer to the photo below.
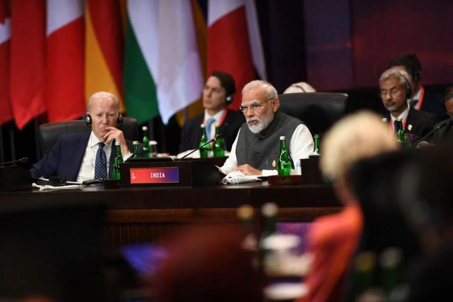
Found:
[[[188, 120], [181, 131], [181, 144], [179, 152], [195, 149], [200, 143], [201, 130], [200, 125], [203, 122], [204, 113], [197, 115]], [[239, 111], [228, 109], [225, 119], [220, 125], [219, 132], [222, 134], [226, 150], [230, 151], [233, 142], [238, 135], [239, 128], [245, 122], [244, 114]]]

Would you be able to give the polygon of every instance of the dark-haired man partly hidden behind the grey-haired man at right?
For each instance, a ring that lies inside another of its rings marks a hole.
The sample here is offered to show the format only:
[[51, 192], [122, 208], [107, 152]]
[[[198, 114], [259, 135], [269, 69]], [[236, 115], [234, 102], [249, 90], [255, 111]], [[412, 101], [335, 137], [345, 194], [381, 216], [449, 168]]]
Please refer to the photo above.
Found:
[[408, 73], [411, 90], [407, 102], [411, 107], [434, 114], [437, 121], [447, 118], [441, 105], [442, 95], [425, 90], [421, 84], [421, 63], [415, 54], [402, 54], [394, 57], [389, 63], [389, 68]]

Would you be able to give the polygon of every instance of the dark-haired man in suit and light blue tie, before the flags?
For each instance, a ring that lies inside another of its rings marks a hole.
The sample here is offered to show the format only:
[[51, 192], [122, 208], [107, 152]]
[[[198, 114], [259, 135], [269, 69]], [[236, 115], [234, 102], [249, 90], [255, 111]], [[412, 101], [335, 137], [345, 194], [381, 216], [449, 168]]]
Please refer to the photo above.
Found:
[[213, 71], [203, 88], [204, 113], [188, 120], [181, 131], [179, 152], [198, 147], [201, 137], [200, 125], [205, 124], [208, 139], [215, 135], [215, 124], [223, 136], [225, 149], [230, 151], [241, 125], [245, 122], [241, 112], [226, 106], [233, 102], [236, 92], [235, 80], [226, 72]]

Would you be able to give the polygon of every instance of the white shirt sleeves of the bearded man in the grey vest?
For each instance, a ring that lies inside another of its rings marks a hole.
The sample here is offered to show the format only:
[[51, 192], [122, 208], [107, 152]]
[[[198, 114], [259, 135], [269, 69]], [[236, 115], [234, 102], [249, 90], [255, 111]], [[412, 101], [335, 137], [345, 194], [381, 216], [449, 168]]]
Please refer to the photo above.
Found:
[[[226, 159], [225, 163], [220, 168], [220, 170], [225, 174], [230, 173], [235, 167], [238, 166], [238, 159], [236, 158], [236, 144], [238, 143], [240, 131], [241, 130], [238, 131], [238, 135], [236, 136], [235, 142], [233, 143], [233, 146], [231, 148], [230, 157]], [[289, 140], [289, 155], [291, 156], [294, 167], [296, 166], [295, 163], [297, 161], [299, 161], [300, 159], [307, 159], [309, 155], [313, 154], [314, 146], [315, 143], [313, 142], [312, 133], [310, 133], [310, 130], [307, 128], [307, 126], [304, 124], [298, 125], [295, 128], [294, 133], [292, 133], [291, 139]], [[277, 170], [262, 171], [262, 176], [277, 174]]]

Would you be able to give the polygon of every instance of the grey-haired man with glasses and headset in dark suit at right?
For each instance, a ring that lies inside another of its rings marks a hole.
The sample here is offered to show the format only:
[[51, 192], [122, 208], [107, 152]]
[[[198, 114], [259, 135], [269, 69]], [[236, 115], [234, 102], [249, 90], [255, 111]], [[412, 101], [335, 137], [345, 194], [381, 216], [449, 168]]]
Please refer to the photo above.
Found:
[[415, 110], [408, 105], [406, 99], [410, 94], [410, 84], [407, 77], [404, 70], [388, 69], [381, 75], [379, 85], [382, 102], [389, 111], [390, 131], [396, 131], [395, 122], [401, 118], [404, 132], [414, 142], [431, 131], [436, 119], [433, 114]]

